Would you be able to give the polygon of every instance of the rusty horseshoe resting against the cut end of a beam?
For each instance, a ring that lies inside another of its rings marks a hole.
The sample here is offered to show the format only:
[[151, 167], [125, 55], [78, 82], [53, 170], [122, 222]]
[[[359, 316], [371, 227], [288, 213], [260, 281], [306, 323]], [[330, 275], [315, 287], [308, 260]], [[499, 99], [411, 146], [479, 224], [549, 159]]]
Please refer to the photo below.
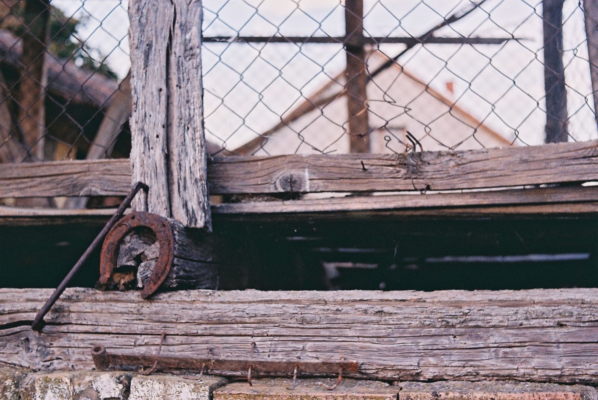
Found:
[[144, 284], [141, 291], [142, 298], [148, 298], [160, 287], [170, 271], [174, 258], [175, 239], [172, 226], [168, 219], [149, 212], [132, 212], [122, 218], [108, 232], [100, 254], [100, 279], [101, 285], [108, 285], [110, 277], [114, 272], [118, 258], [118, 246], [121, 240], [130, 233], [133, 228], [145, 227], [151, 229], [160, 245], [160, 253], [149, 277], [149, 282]]

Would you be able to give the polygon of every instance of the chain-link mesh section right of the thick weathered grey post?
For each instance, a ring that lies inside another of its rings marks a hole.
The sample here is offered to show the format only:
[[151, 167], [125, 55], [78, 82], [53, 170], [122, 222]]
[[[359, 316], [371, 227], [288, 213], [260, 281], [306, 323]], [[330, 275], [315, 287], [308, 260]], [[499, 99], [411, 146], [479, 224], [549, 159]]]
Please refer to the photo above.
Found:
[[[544, 143], [542, 1], [365, 0], [361, 42], [360, 27], [345, 30], [355, 3], [204, 2], [206, 132], [222, 154]], [[551, 45], [565, 73], [565, 138], [596, 138], [583, 3], [565, 0], [554, 28], [563, 35], [562, 47]]]

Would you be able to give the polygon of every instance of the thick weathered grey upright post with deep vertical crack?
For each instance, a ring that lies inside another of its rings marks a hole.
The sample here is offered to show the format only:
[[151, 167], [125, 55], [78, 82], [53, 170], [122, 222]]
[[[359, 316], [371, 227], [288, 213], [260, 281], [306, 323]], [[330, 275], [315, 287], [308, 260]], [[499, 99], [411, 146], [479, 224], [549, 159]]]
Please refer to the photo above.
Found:
[[202, 2], [129, 3], [133, 207], [211, 229], [202, 102]]

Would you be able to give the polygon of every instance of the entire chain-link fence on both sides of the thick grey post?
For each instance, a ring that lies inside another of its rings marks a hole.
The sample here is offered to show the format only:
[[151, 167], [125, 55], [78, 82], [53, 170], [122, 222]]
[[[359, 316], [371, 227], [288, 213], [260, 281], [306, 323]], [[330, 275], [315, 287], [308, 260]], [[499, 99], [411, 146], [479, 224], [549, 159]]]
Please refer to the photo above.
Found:
[[[203, 6], [211, 154], [431, 151], [598, 136], [580, 1]], [[0, 161], [127, 157], [127, 2], [2, 0], [0, 11]]]

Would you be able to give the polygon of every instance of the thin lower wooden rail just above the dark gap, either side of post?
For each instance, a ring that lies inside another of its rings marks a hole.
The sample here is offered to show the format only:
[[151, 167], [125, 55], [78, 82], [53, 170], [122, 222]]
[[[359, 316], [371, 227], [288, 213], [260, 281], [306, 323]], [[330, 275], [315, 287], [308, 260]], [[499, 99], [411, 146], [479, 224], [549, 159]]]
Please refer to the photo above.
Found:
[[[88, 223], [114, 209], [30, 209], [0, 206], [0, 226]], [[300, 221], [359, 218], [487, 218], [489, 216], [598, 216], [598, 186], [488, 190], [466, 193], [385, 194], [310, 200], [212, 204], [216, 221]]]

